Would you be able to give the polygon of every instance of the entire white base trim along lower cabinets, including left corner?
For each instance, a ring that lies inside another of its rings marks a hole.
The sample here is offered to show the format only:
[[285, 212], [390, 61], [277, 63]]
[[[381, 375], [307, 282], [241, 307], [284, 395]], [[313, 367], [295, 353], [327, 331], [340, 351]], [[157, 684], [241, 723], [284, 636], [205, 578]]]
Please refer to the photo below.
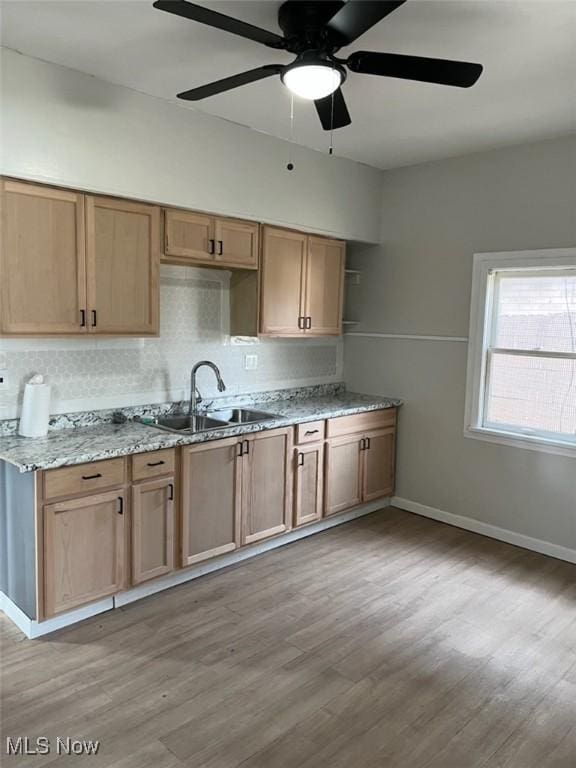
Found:
[[311, 523], [303, 528], [296, 528], [281, 536], [276, 536], [268, 541], [262, 541], [258, 544], [253, 544], [250, 547], [239, 549], [236, 552], [231, 552], [228, 555], [222, 555], [214, 560], [207, 560], [205, 563], [193, 566], [191, 568], [185, 568], [181, 571], [176, 571], [170, 576], [166, 576], [161, 579], [157, 579], [149, 582], [148, 584], [142, 584], [139, 587], [134, 587], [126, 592], [120, 592], [114, 597], [108, 597], [105, 600], [99, 600], [96, 603], [77, 608], [74, 611], [68, 611], [61, 616], [55, 616], [52, 619], [46, 621], [36, 621], [31, 619], [18, 608], [18, 606], [10, 600], [10, 598], [0, 591], [0, 611], [2, 611], [16, 626], [28, 637], [33, 640], [43, 635], [48, 635], [51, 632], [55, 632], [57, 629], [63, 627], [69, 627], [72, 624], [77, 624], [84, 619], [89, 619], [92, 616], [96, 616], [99, 613], [113, 610], [114, 608], [120, 608], [123, 605], [129, 605], [136, 600], [141, 600], [149, 595], [154, 595], [157, 592], [163, 592], [165, 589], [175, 587], [178, 584], [184, 584], [187, 581], [192, 581], [200, 576], [204, 576], [207, 573], [213, 571], [219, 571], [222, 568], [226, 568], [229, 565], [240, 563], [242, 560], [247, 560], [256, 555], [261, 555], [263, 552], [268, 552], [278, 547], [283, 547], [285, 544], [290, 544], [298, 539], [312, 536], [320, 531], [334, 528], [336, 525], [342, 525], [342, 523], [348, 523], [350, 520], [355, 520], [358, 517], [369, 515], [372, 512], [376, 512], [379, 509], [384, 509], [390, 506], [390, 499], [377, 499], [376, 501], [370, 501], [367, 504], [362, 504], [359, 507], [348, 512], [342, 512], [334, 517], [328, 517], [324, 520], [320, 520], [318, 523]]

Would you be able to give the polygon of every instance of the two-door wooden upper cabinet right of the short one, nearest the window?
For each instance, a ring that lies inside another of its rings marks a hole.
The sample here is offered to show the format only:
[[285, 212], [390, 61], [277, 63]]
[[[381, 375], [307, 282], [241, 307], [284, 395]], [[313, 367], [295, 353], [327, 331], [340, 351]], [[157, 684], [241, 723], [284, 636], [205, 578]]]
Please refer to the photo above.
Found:
[[260, 285], [263, 336], [337, 336], [345, 244], [265, 227]]

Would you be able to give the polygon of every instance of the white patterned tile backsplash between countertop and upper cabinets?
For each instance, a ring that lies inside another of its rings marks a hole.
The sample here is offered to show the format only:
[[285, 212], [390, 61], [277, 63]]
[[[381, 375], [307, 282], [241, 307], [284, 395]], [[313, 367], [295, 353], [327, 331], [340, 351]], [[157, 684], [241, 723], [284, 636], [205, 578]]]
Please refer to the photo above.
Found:
[[[0, 339], [8, 380], [0, 419], [18, 415], [34, 373], [52, 384], [52, 413], [185, 399], [190, 369], [203, 359], [220, 367], [232, 395], [340, 381], [341, 339], [231, 338], [229, 283], [229, 272], [163, 265], [159, 338]], [[245, 370], [246, 354], [258, 356], [256, 370]], [[209, 370], [198, 386], [203, 396], [217, 394]]]

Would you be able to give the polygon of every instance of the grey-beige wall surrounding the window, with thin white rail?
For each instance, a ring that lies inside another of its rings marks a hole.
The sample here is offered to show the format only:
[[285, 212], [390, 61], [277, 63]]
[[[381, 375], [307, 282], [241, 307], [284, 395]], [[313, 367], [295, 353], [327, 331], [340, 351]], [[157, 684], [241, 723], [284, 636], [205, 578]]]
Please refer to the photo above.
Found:
[[[354, 331], [467, 337], [474, 253], [574, 244], [574, 136], [388, 172], [382, 246], [353, 254]], [[576, 550], [576, 459], [464, 438], [466, 356], [346, 337], [348, 385], [406, 401], [398, 496]]]

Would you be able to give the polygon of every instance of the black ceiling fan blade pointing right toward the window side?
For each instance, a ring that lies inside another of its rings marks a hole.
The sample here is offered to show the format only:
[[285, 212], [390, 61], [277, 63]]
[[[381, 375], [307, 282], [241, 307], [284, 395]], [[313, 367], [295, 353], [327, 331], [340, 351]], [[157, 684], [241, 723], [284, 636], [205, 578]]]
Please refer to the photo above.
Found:
[[423, 83], [454, 85], [469, 88], [482, 74], [481, 64], [448, 59], [427, 59], [423, 56], [403, 56], [398, 53], [353, 53], [346, 62], [352, 72], [383, 77], [420, 80]]

